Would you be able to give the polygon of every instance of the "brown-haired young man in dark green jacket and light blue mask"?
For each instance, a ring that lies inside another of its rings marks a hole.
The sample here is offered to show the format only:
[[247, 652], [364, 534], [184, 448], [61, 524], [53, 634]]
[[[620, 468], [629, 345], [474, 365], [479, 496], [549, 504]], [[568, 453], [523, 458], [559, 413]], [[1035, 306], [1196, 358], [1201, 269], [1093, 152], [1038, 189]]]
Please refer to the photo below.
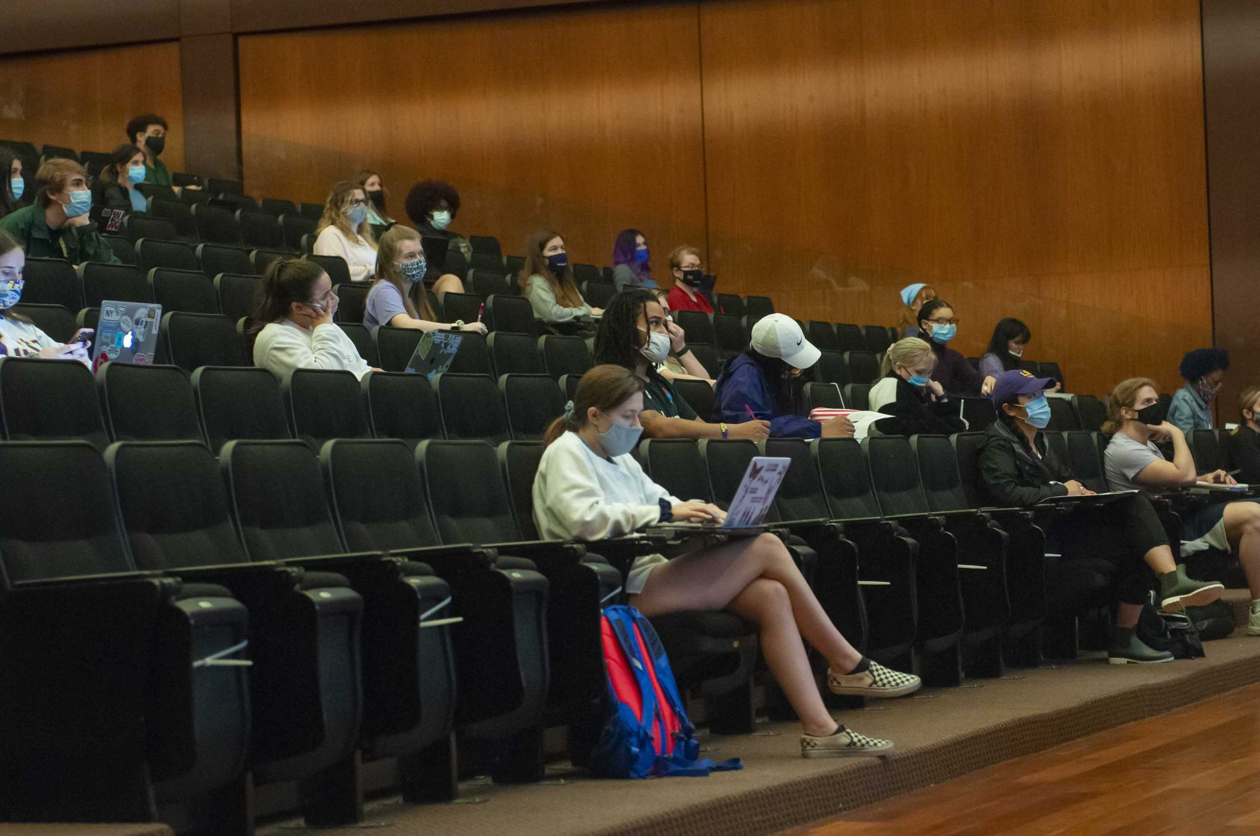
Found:
[[91, 208], [87, 171], [74, 160], [57, 157], [39, 166], [35, 201], [0, 218], [0, 232], [9, 233], [21, 244], [28, 258], [121, 264], [88, 218]]

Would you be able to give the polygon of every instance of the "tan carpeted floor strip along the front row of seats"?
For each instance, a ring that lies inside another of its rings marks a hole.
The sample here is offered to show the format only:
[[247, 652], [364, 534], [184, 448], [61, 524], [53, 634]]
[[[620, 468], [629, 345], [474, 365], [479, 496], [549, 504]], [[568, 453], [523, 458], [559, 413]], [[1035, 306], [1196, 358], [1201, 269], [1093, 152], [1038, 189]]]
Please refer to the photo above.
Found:
[[[774, 833], [1260, 681], [1260, 638], [1236, 632], [1210, 642], [1207, 653], [1171, 665], [1121, 667], [1096, 657], [1013, 670], [838, 715], [858, 731], [891, 738], [897, 750], [888, 758], [805, 760], [799, 726], [764, 723], [751, 737], [701, 733], [707, 757], [742, 758], [742, 772], [596, 781], [554, 767], [542, 786], [465, 782], [459, 803], [372, 801], [365, 823], [399, 836]], [[271, 822], [258, 833], [295, 827], [299, 820]]]

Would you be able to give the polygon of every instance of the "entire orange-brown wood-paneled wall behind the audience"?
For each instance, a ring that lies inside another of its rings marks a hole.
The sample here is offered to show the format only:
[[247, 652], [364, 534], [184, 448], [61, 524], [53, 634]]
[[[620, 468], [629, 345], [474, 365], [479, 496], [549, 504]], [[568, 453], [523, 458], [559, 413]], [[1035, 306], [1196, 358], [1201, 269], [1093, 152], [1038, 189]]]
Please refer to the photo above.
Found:
[[[505, 252], [547, 227], [604, 264], [633, 225], [658, 276], [694, 243], [721, 290], [801, 319], [892, 322], [930, 281], [960, 350], [1019, 316], [1080, 392], [1172, 390], [1212, 341], [1197, 0], [592, 4], [237, 52], [257, 196], [321, 200], [370, 166], [402, 218], [444, 178], [454, 228]], [[174, 44], [4, 62], [0, 136], [112, 146], [154, 102], [178, 167], [178, 64]]]

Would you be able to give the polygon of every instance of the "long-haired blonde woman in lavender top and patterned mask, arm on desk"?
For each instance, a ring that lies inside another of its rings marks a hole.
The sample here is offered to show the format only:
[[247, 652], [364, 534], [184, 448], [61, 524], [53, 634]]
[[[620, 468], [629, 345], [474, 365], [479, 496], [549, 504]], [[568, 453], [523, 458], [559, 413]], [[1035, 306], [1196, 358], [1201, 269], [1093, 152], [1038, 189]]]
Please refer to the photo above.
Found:
[[422, 331], [450, 330], [485, 334], [481, 322], [437, 322], [425, 295], [425, 251], [420, 233], [410, 227], [391, 227], [381, 237], [377, 251], [377, 276], [368, 290], [363, 326], [392, 325]]

